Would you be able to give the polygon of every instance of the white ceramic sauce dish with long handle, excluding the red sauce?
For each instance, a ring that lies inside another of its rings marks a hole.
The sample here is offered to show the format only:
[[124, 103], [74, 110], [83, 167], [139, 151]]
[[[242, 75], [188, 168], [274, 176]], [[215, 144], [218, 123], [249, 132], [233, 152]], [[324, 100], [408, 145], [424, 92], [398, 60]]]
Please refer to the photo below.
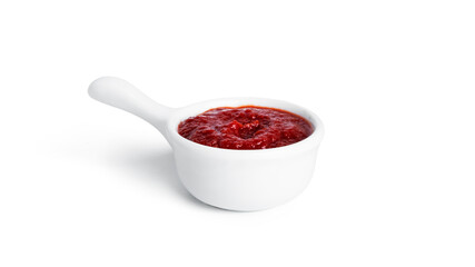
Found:
[[[320, 119], [299, 106], [274, 99], [228, 98], [168, 108], [129, 82], [103, 77], [89, 86], [89, 95], [129, 111], [155, 126], [174, 150], [178, 176], [197, 199], [222, 209], [251, 211], [284, 204], [308, 185], [324, 136]], [[180, 121], [217, 107], [261, 106], [297, 113], [314, 126], [306, 139], [279, 148], [232, 150], [204, 146], [181, 137]]]

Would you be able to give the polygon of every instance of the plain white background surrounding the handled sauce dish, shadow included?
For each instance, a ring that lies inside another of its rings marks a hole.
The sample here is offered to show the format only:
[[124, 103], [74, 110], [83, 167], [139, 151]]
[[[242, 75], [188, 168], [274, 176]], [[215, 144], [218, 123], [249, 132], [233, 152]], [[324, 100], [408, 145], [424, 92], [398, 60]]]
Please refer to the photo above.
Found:
[[[0, 2], [0, 266], [475, 266], [473, 1]], [[180, 107], [289, 100], [309, 187], [230, 212], [178, 181], [129, 80]]]

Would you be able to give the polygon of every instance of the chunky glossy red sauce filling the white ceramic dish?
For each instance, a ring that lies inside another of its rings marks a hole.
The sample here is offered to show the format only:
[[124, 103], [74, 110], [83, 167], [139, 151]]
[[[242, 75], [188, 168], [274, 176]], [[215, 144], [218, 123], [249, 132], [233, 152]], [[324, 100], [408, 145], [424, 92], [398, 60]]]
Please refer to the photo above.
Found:
[[298, 142], [314, 131], [298, 115], [274, 108], [215, 108], [181, 121], [178, 134], [194, 142], [227, 149], [264, 149]]

